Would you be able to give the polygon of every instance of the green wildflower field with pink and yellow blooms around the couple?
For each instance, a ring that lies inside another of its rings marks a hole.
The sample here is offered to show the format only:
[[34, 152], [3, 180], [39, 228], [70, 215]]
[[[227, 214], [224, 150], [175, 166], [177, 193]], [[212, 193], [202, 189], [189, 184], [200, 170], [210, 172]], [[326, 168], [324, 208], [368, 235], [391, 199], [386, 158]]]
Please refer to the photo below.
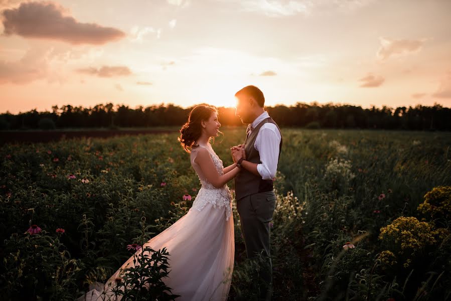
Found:
[[[212, 145], [228, 166], [245, 130], [221, 130]], [[2, 298], [72, 300], [186, 214], [200, 183], [177, 136], [3, 145]], [[282, 137], [270, 223], [274, 300], [450, 298], [451, 133], [282, 128]], [[229, 299], [251, 300], [235, 202], [233, 214]], [[155, 251], [154, 289], [130, 299], [173, 299], [161, 282], [171, 254]]]

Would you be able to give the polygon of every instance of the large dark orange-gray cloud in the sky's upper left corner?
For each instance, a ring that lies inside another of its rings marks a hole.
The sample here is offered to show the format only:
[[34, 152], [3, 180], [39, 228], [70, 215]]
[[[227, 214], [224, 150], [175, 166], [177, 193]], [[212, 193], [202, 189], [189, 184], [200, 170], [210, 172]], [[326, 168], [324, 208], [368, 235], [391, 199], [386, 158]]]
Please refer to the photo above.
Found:
[[22, 3], [2, 12], [4, 35], [60, 40], [70, 44], [101, 45], [125, 37], [125, 33], [95, 23], [79, 23], [53, 2]]

